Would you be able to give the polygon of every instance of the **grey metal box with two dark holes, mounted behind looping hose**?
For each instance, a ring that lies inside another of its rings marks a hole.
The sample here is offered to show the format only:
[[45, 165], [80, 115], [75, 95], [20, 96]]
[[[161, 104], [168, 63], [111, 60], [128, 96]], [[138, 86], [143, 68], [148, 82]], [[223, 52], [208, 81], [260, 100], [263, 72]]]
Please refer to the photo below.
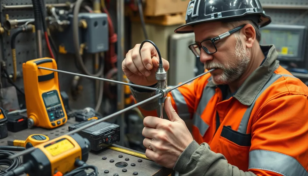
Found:
[[[85, 28], [79, 27], [79, 46], [84, 43], [84, 52], [98, 53], [109, 50], [108, 20], [106, 13], [79, 13], [79, 22], [86, 22]], [[73, 15], [68, 15], [69, 26], [59, 32], [59, 52], [75, 54], [73, 45]]]

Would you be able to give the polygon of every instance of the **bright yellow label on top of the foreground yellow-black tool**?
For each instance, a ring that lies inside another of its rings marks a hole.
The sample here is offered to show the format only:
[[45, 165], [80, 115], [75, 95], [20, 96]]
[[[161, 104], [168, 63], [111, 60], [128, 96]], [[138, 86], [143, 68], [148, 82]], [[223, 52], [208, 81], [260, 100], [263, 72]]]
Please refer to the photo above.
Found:
[[55, 144], [45, 147], [45, 149], [52, 155], [57, 156], [67, 150], [73, 149], [74, 145], [67, 139], [61, 140]]

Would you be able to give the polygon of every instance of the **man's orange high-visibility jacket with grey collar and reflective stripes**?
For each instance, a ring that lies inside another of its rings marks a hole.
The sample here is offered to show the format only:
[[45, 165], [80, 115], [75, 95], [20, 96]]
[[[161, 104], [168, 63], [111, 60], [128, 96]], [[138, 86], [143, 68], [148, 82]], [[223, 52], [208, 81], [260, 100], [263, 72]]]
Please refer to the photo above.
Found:
[[[214, 85], [210, 74], [168, 93], [179, 117], [192, 121], [195, 139], [174, 170], [308, 176], [308, 88], [279, 65], [273, 45], [261, 49], [263, 63], [234, 94], [228, 86]], [[137, 102], [155, 95], [131, 90]], [[139, 108], [144, 116], [159, 117], [157, 100]]]

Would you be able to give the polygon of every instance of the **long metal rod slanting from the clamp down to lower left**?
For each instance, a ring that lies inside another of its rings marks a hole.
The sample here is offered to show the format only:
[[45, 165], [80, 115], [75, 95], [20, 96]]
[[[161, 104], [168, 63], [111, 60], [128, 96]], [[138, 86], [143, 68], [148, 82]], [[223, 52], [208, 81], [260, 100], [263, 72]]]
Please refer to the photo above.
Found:
[[[144, 104], [144, 103], [146, 103], [146, 102], [148, 102], [148, 101], [151, 101], [151, 100], [153, 100], [153, 99], [155, 99], [155, 98], [157, 98], [157, 97], [159, 97], [159, 96], [161, 96], [161, 93], [159, 93], [159, 94], [157, 94], [157, 95], [155, 95], [155, 96], [152, 96], [151, 98], [148, 98], [148, 99], [146, 99], [146, 100], [140, 101], [139, 103], [133, 104], [132, 106], [129, 106], [129, 107], [125, 108], [125, 109], [122, 109], [122, 110], [120, 110], [120, 111], [118, 111], [118, 112], [116, 112], [116, 113], [110, 114], [109, 116], [106, 116], [106, 117], [103, 117], [103, 118], [101, 118], [101, 119], [99, 119], [99, 120], [93, 121], [93, 122], [91, 122], [91, 123], [89, 123], [89, 124], [87, 124], [87, 125], [84, 125], [84, 126], [78, 128], [78, 129], [74, 129], [74, 130], [72, 130], [72, 131], [70, 131], [70, 132], [68, 132], [68, 133], [66, 133], [66, 134], [64, 134], [64, 135], [71, 135], [71, 134], [74, 134], [74, 133], [78, 133], [78, 132], [81, 131], [81, 130], [87, 129], [87, 128], [93, 126], [93, 125], [96, 125], [96, 124], [98, 124], [98, 123], [100, 123], [100, 122], [106, 121], [106, 120], [108, 120], [108, 119], [110, 119], [110, 118], [112, 118], [112, 117], [115, 117], [115, 116], [119, 115], [119, 114], [123, 114], [123, 113], [125, 113], [126, 111], [131, 110], [131, 109], [133, 109], [133, 108], [136, 108], [136, 107], [140, 106], [141, 104]], [[62, 135], [62, 136], [63, 136], [63, 135]], [[48, 142], [48, 141], [47, 141], [47, 142]], [[47, 143], [47, 142], [44, 142], [44, 143]], [[21, 152], [18, 152], [18, 153], [16, 153], [16, 154], [14, 154], [14, 155], [10, 155], [8, 158], [9, 158], [9, 159], [17, 158], [17, 157], [19, 157], [19, 156], [22, 156], [22, 155], [25, 155], [25, 154], [27, 154], [27, 153], [32, 152], [34, 149], [36, 149], [36, 148], [35, 148], [35, 147], [30, 147], [30, 148], [28, 148], [28, 149], [26, 149], [26, 150], [23, 150], [23, 151], [21, 151]]]

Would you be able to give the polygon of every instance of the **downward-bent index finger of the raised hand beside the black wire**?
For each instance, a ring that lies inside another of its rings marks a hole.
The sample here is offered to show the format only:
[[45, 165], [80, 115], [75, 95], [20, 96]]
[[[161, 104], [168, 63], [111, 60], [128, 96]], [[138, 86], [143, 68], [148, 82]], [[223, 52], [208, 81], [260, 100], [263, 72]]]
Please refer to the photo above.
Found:
[[151, 43], [144, 43], [144, 45], [140, 49], [140, 55], [144, 66], [148, 70], [151, 70], [153, 68], [152, 56], [157, 55], [155, 47]]

